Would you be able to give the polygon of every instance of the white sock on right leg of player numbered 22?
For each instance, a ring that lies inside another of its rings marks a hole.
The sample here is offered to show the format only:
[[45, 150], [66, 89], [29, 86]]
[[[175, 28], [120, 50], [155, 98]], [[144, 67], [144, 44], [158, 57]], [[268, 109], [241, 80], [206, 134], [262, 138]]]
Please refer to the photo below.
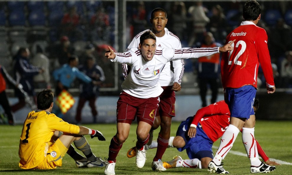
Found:
[[242, 142], [247, 153], [247, 157], [250, 160], [252, 166], [259, 166], [261, 161], [259, 160], [259, 154], [257, 152], [257, 143], [254, 138], [253, 128], [242, 128]]

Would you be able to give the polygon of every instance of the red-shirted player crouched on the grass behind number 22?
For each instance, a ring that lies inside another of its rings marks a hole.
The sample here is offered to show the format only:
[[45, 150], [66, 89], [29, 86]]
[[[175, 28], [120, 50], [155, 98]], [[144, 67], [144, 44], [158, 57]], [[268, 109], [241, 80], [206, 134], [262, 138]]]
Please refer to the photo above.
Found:
[[[254, 102], [254, 111], [257, 111], [259, 102]], [[169, 147], [177, 148], [179, 151], [186, 149], [189, 160], [182, 160], [180, 156], [175, 156], [173, 160], [163, 162], [165, 168], [173, 167], [189, 167], [206, 169], [212, 161], [213, 143], [220, 138], [230, 123], [230, 112], [228, 105], [224, 101], [210, 104], [207, 107], [199, 109], [194, 117], [188, 117], [181, 122], [176, 132], [176, 137], [171, 137], [168, 143]], [[198, 126], [198, 127], [190, 127]], [[190, 129], [189, 129], [190, 128]], [[256, 141], [256, 140], [255, 140]], [[280, 165], [274, 161], [270, 161], [259, 143], [256, 141], [259, 155], [268, 165]], [[157, 141], [153, 141], [151, 145], [145, 146], [146, 149], [156, 148]], [[135, 149], [131, 148], [127, 156], [129, 158], [135, 156]]]

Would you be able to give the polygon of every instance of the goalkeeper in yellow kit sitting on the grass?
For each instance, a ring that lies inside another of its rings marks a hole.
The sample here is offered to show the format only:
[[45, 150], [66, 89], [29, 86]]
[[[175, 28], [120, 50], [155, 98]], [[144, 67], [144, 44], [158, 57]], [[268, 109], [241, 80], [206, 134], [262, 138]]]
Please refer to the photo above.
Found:
[[[69, 124], [52, 114], [53, 92], [50, 89], [45, 89], [38, 94], [37, 104], [38, 110], [27, 115], [20, 136], [18, 155], [21, 169], [55, 169], [57, 166], [61, 166], [62, 157], [68, 148], [72, 148], [72, 142], [88, 160], [96, 160], [83, 135], [88, 134], [91, 135], [91, 138], [98, 137], [99, 140], [104, 141], [106, 139], [102, 133], [98, 130]], [[59, 131], [63, 132], [61, 136]], [[69, 155], [72, 158], [78, 156], [72, 156], [72, 150], [70, 152], [71, 155]], [[100, 162], [98, 165], [94, 161], [87, 161], [87, 167], [93, 166], [102, 167], [105, 164]]]

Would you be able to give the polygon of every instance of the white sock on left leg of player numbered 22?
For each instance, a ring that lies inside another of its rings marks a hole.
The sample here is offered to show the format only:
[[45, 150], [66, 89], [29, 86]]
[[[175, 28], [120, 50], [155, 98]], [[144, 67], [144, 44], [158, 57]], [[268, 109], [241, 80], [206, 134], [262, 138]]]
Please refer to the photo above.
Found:
[[216, 165], [220, 165], [222, 159], [224, 159], [227, 153], [230, 151], [238, 133], [239, 129], [236, 126], [230, 124], [227, 127], [226, 131], [220, 139], [220, 145], [216, 155], [213, 158], [213, 161]]

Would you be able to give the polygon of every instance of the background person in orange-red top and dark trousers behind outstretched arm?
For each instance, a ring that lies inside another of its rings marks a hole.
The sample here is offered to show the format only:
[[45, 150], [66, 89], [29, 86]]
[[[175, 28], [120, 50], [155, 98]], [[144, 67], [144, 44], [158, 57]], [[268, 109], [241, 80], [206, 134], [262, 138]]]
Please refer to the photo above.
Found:
[[[211, 32], [207, 32], [201, 47], [217, 47], [215, 39]], [[207, 90], [208, 86], [212, 91], [211, 104], [217, 101], [218, 96], [218, 82], [219, 82], [219, 60], [220, 54], [215, 53], [207, 57], [198, 58], [198, 81], [200, 88], [200, 97], [202, 107], [207, 106]]]

